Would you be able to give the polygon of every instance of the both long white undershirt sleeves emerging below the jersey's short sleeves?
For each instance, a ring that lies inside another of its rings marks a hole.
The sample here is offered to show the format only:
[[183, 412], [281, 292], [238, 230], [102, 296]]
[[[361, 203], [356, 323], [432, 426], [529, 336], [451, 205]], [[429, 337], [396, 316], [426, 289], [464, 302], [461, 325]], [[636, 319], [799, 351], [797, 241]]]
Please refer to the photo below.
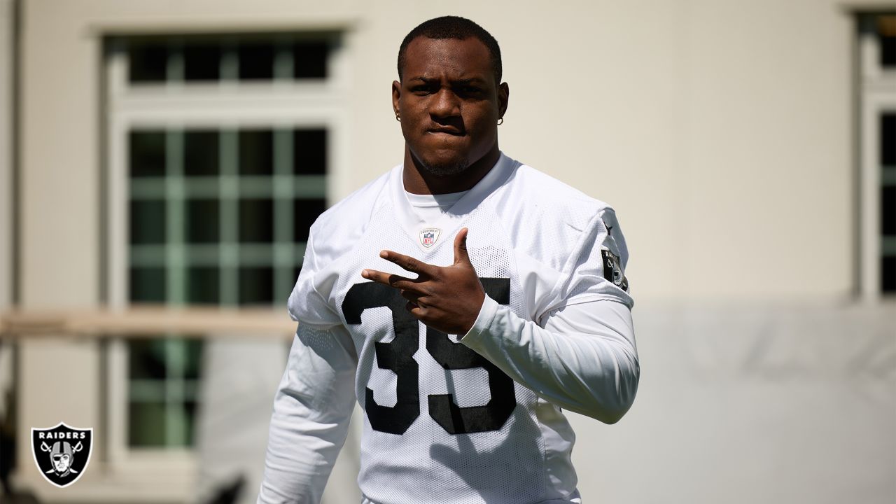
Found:
[[[486, 298], [461, 343], [560, 407], [618, 421], [639, 365], [631, 310], [612, 300], [567, 304], [544, 327]], [[358, 358], [342, 326], [300, 325], [271, 417], [259, 504], [317, 503], [348, 433]]]

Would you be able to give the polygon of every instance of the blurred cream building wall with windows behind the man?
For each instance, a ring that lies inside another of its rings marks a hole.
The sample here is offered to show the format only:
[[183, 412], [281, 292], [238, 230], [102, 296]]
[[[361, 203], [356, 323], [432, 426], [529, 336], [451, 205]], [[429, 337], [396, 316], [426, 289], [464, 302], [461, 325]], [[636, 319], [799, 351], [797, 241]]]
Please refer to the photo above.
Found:
[[[0, 0], [0, 502], [254, 502], [308, 227], [401, 162], [397, 51], [446, 13], [501, 44], [504, 152], [631, 250], [641, 389], [571, 414], [584, 501], [896, 502], [874, 0]], [[60, 421], [95, 436], [65, 489]]]

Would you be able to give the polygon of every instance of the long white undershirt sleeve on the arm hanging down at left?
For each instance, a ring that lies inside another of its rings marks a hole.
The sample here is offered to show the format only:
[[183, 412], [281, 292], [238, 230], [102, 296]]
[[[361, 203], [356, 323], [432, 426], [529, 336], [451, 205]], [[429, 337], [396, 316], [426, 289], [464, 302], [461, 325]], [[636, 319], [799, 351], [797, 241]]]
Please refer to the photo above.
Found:
[[316, 504], [349, 431], [358, 356], [342, 326], [299, 325], [274, 398], [258, 504]]

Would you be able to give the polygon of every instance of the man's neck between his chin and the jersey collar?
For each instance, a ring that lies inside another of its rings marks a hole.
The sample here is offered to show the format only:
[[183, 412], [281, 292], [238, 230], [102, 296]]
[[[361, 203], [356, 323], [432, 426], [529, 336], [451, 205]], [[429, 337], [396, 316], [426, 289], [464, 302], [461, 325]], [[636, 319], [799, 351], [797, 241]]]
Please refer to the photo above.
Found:
[[440, 176], [433, 175], [421, 167], [419, 161], [405, 147], [404, 172], [402, 175], [404, 190], [414, 195], [447, 195], [469, 191], [495, 167], [495, 163], [498, 162], [500, 157], [501, 151], [495, 146], [494, 150], [489, 151], [461, 173]]

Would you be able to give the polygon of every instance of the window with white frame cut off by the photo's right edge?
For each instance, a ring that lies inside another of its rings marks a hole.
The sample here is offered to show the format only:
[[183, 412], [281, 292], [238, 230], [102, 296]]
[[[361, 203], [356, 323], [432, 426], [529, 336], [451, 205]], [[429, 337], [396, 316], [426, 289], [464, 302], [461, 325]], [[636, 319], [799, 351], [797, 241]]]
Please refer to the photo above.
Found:
[[861, 283], [896, 294], [896, 13], [859, 16]]

